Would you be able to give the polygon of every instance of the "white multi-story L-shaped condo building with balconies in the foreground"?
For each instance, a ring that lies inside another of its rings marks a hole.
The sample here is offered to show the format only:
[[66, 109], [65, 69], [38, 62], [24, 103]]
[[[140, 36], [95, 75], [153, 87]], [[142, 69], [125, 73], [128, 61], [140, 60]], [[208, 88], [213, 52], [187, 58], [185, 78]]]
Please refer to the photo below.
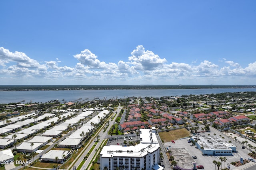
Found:
[[160, 163], [160, 146], [152, 129], [140, 129], [140, 144], [110, 145], [100, 152], [101, 170], [152, 170]]

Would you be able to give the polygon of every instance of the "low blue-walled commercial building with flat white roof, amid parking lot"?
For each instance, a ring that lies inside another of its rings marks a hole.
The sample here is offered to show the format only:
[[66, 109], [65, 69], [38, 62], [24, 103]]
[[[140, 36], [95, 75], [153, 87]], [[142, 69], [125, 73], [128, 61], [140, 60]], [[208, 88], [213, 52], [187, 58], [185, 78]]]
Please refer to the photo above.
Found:
[[204, 155], [232, 155], [232, 152], [236, 152], [235, 145], [219, 136], [193, 136], [190, 140], [196, 143]]

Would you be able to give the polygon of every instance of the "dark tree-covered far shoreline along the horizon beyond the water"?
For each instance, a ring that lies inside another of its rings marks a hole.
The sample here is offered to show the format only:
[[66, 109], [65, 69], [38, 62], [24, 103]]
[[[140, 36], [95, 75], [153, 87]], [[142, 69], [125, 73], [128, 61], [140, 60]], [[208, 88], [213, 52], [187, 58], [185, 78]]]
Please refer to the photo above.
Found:
[[0, 91], [256, 88], [256, 85], [0, 85]]

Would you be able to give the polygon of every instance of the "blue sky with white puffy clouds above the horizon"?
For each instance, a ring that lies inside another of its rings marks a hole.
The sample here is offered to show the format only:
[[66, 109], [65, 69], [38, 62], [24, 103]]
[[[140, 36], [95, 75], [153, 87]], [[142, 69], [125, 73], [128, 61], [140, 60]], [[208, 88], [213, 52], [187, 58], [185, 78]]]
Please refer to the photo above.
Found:
[[0, 85], [256, 84], [255, 0], [2, 0]]

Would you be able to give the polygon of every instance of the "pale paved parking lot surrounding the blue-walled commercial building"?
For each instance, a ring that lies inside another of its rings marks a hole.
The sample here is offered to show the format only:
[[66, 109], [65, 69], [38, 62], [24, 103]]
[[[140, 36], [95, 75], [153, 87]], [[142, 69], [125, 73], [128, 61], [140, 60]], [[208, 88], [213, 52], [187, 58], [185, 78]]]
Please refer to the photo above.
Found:
[[[199, 126], [199, 127], [201, 129], [201, 126]], [[202, 127], [204, 127], [204, 126], [202, 125]], [[210, 127], [210, 132], [199, 133], [197, 135], [208, 135], [208, 134], [214, 135], [214, 133], [218, 136], [221, 135], [222, 137], [225, 138], [226, 141], [232, 141], [232, 144], [236, 145], [237, 152], [233, 152], [233, 156], [224, 156], [227, 158], [226, 167], [227, 167], [227, 164], [230, 164], [233, 161], [238, 161], [238, 160], [240, 160], [240, 158], [245, 158], [247, 160], [250, 157], [247, 155], [249, 153], [249, 150], [242, 149], [242, 144], [234, 141], [234, 139], [231, 139], [230, 137], [226, 136], [225, 134], [223, 134], [220, 131], [213, 129], [212, 127]], [[203, 165], [205, 170], [215, 170], [215, 165], [212, 163], [212, 161], [213, 160], [220, 161], [220, 159], [219, 159], [220, 156], [208, 156], [208, 155], [204, 156], [204, 155], [202, 155], [201, 150], [196, 149], [195, 146], [190, 146], [191, 143], [188, 143], [188, 141], [187, 141], [188, 139], [189, 138], [176, 140], [175, 143], [166, 142], [166, 143], [164, 143], [164, 146], [166, 148], [169, 146], [170, 147], [178, 147], [178, 148], [179, 147], [186, 148], [191, 156], [197, 157], [197, 159], [195, 159], [197, 165]], [[242, 166], [242, 167], [238, 167], [238, 168], [235, 166], [232, 166], [232, 165], [230, 165], [230, 167], [232, 170], [234, 170], [234, 169], [245, 168], [251, 164], [255, 164], [255, 163], [250, 162], [250, 163], [246, 164], [246, 166]], [[222, 162], [222, 168], [224, 168], [224, 162]]]

